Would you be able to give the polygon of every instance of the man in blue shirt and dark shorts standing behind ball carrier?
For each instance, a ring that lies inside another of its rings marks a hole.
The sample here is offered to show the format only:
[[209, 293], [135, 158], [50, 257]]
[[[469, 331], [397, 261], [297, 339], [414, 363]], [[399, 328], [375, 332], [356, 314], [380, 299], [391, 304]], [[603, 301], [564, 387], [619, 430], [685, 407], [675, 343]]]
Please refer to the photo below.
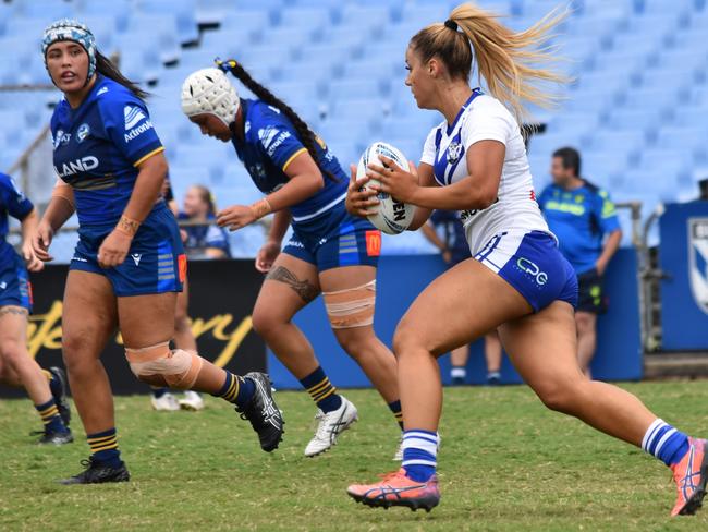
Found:
[[577, 358], [590, 376], [597, 346], [597, 315], [607, 311], [602, 276], [620, 247], [622, 230], [607, 191], [581, 177], [581, 154], [571, 147], [557, 149], [551, 160], [553, 183], [540, 197], [550, 230], [578, 280]]

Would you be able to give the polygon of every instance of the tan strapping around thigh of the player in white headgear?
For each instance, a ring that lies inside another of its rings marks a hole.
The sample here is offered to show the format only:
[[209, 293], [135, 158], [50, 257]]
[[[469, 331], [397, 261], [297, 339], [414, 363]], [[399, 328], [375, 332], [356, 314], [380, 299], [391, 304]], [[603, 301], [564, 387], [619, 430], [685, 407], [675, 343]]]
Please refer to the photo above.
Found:
[[322, 298], [333, 329], [363, 327], [374, 323], [376, 279], [356, 288], [322, 292]]

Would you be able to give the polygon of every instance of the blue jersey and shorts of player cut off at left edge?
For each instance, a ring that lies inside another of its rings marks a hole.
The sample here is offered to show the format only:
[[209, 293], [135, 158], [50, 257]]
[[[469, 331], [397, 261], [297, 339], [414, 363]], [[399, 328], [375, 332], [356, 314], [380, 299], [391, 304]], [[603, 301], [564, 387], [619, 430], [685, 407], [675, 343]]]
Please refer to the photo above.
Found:
[[17, 189], [10, 176], [0, 173], [0, 307], [23, 306], [32, 311], [32, 288], [24, 261], [5, 241], [8, 218], [22, 221], [34, 205]]

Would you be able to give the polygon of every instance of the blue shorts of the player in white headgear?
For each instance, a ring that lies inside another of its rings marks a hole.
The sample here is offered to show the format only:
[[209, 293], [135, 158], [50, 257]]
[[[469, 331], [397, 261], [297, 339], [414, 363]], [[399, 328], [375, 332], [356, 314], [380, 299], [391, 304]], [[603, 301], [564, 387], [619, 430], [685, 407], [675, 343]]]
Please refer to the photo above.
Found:
[[344, 266], [376, 267], [381, 254], [381, 232], [364, 219], [351, 216], [344, 202], [312, 222], [293, 223], [293, 235], [283, 249], [319, 271]]

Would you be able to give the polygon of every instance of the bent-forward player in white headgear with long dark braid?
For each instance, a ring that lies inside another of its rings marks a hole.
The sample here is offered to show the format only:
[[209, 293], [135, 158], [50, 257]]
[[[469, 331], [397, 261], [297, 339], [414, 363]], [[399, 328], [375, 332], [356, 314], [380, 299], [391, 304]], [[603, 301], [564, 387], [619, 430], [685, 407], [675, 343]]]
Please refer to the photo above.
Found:
[[[224, 72], [199, 70], [182, 86], [182, 109], [202, 133], [232, 142], [256, 186], [268, 194], [234, 205], [217, 222], [240, 229], [276, 213], [256, 268], [267, 273], [253, 312], [255, 330], [317, 403], [318, 428], [305, 449], [319, 455], [357, 420], [354, 404], [337, 394], [313, 347], [292, 323], [321, 292], [340, 346], [364, 370], [400, 422], [395, 359], [374, 334], [376, 266], [381, 237], [344, 208], [346, 174], [307, 124], [236, 61], [217, 62], [258, 99], [239, 98]], [[280, 252], [288, 226], [293, 237]]]

